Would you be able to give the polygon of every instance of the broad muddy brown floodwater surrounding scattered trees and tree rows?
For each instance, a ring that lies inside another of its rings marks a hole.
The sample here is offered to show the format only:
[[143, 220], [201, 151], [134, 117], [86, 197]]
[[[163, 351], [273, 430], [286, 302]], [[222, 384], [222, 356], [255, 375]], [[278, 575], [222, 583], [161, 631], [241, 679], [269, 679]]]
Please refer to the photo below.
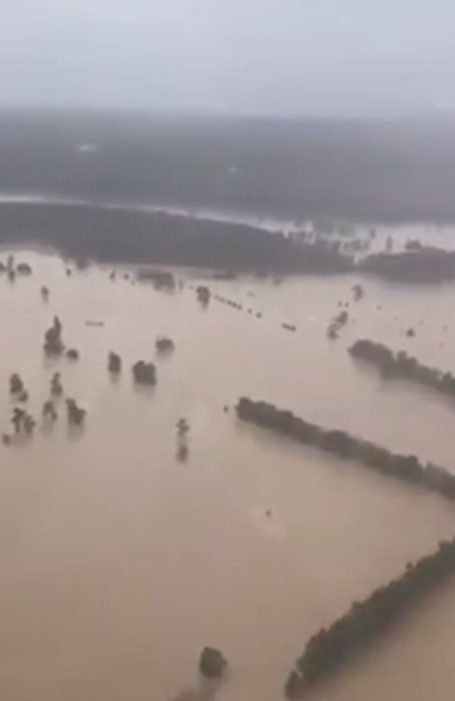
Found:
[[[455, 285], [365, 279], [353, 303], [353, 277], [210, 281], [237, 311], [213, 297], [202, 308], [196, 272], [178, 271], [183, 286], [167, 293], [123, 270], [115, 281], [95, 266], [66, 277], [57, 257], [16, 255], [34, 273], [0, 278], [0, 431], [14, 371], [37, 416], [56, 371], [88, 415], [81, 435], [62, 411], [52, 431], [0, 447], [1, 699], [205, 700], [197, 657], [208, 644], [230, 663], [217, 701], [279, 701], [316, 629], [454, 535], [454, 505], [240, 424], [233, 406], [240, 395], [269, 400], [455, 470], [455, 403], [386, 384], [346, 353], [367, 336], [453, 372]], [[351, 318], [329, 341], [339, 301]], [[54, 314], [79, 362], [44, 360]], [[176, 344], [165, 358], [160, 335]], [[118, 381], [109, 351], [124, 361]], [[153, 390], [132, 385], [139, 359], [156, 362]], [[186, 463], [176, 460], [181, 417]], [[315, 697], [446, 701], [454, 601], [455, 582]]]

